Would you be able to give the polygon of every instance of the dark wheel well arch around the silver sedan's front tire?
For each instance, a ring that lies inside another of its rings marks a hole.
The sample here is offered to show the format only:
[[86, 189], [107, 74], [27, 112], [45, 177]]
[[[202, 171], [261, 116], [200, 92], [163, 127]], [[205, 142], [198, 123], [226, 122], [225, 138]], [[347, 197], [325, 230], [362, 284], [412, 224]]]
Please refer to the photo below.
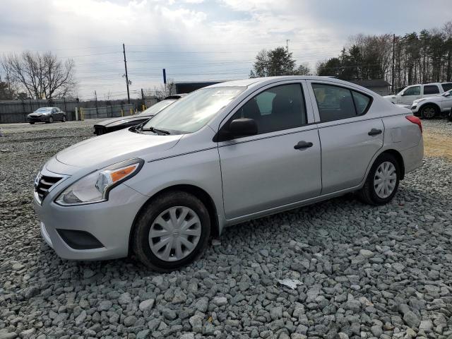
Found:
[[153, 201], [155, 199], [156, 196], [159, 196], [160, 194], [165, 194], [168, 191], [184, 191], [186, 193], [193, 194], [194, 196], [196, 196], [196, 198], [201, 200], [201, 202], [204, 204], [204, 206], [206, 206], [206, 208], [208, 210], [210, 222], [212, 223], [210, 234], [212, 235], [212, 237], [218, 237], [220, 235], [217, 208], [215, 207], [215, 203], [213, 202], [213, 199], [210, 197], [210, 195], [206, 191], [204, 191], [203, 189], [200, 189], [198, 186], [194, 186], [194, 185], [169, 186], [166, 189], [162, 189], [162, 191], [158, 191], [156, 194], [154, 194], [153, 196], [148, 198], [148, 201], [146, 201], [143, 204], [143, 206], [141, 206], [140, 210], [138, 210], [138, 213], [136, 213], [136, 216], [135, 216], [135, 219], [133, 220], [133, 224], [132, 224], [130, 234], [129, 234], [129, 254], [131, 254], [131, 239], [132, 239], [131, 235], [135, 231], [136, 218], [141, 213], [141, 211], [146, 206], [148, 206], [148, 204], [151, 201]]

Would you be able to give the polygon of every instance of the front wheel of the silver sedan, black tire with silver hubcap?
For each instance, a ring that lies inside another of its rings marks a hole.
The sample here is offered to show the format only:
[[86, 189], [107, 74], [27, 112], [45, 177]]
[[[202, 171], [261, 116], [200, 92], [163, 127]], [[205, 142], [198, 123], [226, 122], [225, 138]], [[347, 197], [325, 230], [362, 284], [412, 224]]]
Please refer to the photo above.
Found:
[[[171, 226], [174, 225], [171, 213], [179, 225], [174, 228]], [[186, 221], [192, 224], [184, 231], [190, 235], [180, 233], [183, 232], [179, 228], [180, 222]], [[159, 232], [165, 232], [168, 236], [159, 237]], [[206, 206], [196, 196], [184, 191], [169, 191], [149, 201], [138, 214], [131, 234], [132, 251], [148, 268], [170, 271], [198, 258], [206, 249], [209, 236], [210, 217]], [[186, 244], [193, 245], [193, 249]]]

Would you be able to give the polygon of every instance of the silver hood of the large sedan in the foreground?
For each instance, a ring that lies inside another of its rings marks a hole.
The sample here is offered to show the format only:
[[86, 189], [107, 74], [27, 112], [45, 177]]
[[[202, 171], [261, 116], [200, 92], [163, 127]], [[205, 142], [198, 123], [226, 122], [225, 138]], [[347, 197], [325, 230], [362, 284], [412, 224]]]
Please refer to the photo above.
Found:
[[147, 160], [151, 153], [174, 147], [182, 136], [141, 134], [123, 129], [87, 139], [57, 153], [59, 162], [73, 167], [102, 168], [132, 157]]

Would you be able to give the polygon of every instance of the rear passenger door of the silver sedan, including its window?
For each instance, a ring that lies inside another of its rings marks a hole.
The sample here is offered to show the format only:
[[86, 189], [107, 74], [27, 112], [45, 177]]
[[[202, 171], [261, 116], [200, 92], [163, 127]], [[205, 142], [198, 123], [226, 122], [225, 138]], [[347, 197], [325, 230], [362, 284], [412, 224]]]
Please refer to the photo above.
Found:
[[359, 185], [383, 146], [380, 118], [367, 115], [371, 96], [326, 81], [310, 82], [321, 142], [321, 194]]

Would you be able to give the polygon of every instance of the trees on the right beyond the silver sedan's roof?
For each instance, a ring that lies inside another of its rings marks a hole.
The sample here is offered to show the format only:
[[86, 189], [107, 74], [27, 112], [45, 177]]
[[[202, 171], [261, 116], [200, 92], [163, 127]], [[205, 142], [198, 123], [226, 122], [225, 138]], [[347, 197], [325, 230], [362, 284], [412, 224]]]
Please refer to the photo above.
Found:
[[[258, 52], [250, 77], [309, 73], [308, 64], [297, 67], [292, 53], [277, 47]], [[384, 79], [394, 81], [394, 89], [414, 83], [452, 81], [452, 21], [441, 28], [400, 36], [352, 36], [338, 57], [316, 65], [316, 74], [345, 81]]]

